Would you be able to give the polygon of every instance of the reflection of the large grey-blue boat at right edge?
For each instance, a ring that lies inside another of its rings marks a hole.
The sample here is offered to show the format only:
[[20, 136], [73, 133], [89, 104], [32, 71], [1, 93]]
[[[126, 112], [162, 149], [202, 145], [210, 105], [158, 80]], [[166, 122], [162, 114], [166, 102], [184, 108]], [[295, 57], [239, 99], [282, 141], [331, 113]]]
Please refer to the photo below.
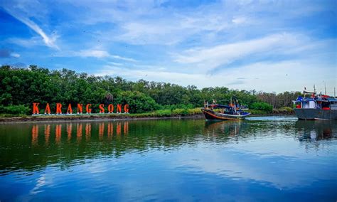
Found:
[[337, 121], [298, 120], [295, 123], [295, 132], [299, 137], [299, 141], [333, 139], [337, 137]]

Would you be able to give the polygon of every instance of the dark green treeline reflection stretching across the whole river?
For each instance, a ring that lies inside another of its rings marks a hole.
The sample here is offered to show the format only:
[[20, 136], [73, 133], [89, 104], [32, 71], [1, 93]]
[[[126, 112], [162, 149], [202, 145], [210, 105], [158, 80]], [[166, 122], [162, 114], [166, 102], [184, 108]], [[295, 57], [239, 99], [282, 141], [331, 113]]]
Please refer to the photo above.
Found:
[[[317, 139], [336, 134], [335, 122], [295, 124], [296, 134], [314, 131]], [[63, 167], [84, 159], [175, 149], [203, 142], [245, 141], [246, 138], [294, 132], [294, 122], [225, 121], [167, 119], [117, 122], [68, 122], [53, 124], [6, 124], [0, 127], [0, 171], [43, 169], [50, 164]]]

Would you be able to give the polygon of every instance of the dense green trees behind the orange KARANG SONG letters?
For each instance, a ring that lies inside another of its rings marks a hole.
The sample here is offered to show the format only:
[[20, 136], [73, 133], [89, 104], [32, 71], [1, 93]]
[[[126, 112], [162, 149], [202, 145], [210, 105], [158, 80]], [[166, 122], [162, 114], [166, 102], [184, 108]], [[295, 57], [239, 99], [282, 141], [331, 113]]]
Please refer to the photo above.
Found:
[[[285, 94], [284, 92], [282, 96]], [[93, 112], [98, 112], [98, 104], [129, 104], [129, 112], [144, 113], [155, 110], [161, 114], [188, 114], [187, 109], [202, 107], [204, 100], [216, 100], [227, 104], [231, 97], [237, 97], [240, 105], [248, 105], [256, 110], [271, 112], [270, 105], [260, 106], [255, 102], [268, 102], [272, 107], [291, 107], [295, 92], [287, 92], [282, 105], [275, 104], [269, 97], [281, 94], [230, 90], [228, 87], [205, 87], [199, 90], [194, 85], [183, 87], [171, 83], [156, 83], [146, 80], [131, 82], [120, 77], [100, 77], [75, 73], [73, 70], [48, 70], [31, 65], [29, 68], [14, 68], [3, 65], [0, 68], [0, 113], [31, 113], [32, 103], [50, 103], [52, 111], [60, 102], [64, 110], [68, 104], [91, 103]], [[267, 98], [266, 98], [267, 97]], [[284, 97], [284, 96], [283, 96]], [[296, 97], [295, 97], [296, 98]], [[269, 100], [268, 100], [269, 99]], [[272, 102], [269, 102], [272, 101]], [[179, 109], [179, 110], [177, 110]], [[168, 111], [166, 111], [168, 110]]]

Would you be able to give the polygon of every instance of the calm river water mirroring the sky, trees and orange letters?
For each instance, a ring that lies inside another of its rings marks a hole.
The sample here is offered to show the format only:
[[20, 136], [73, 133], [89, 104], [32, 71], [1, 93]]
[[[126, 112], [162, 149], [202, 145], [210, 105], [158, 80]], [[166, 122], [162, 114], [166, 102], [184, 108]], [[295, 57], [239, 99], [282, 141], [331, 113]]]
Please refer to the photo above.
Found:
[[0, 201], [336, 201], [337, 122], [0, 124]]

